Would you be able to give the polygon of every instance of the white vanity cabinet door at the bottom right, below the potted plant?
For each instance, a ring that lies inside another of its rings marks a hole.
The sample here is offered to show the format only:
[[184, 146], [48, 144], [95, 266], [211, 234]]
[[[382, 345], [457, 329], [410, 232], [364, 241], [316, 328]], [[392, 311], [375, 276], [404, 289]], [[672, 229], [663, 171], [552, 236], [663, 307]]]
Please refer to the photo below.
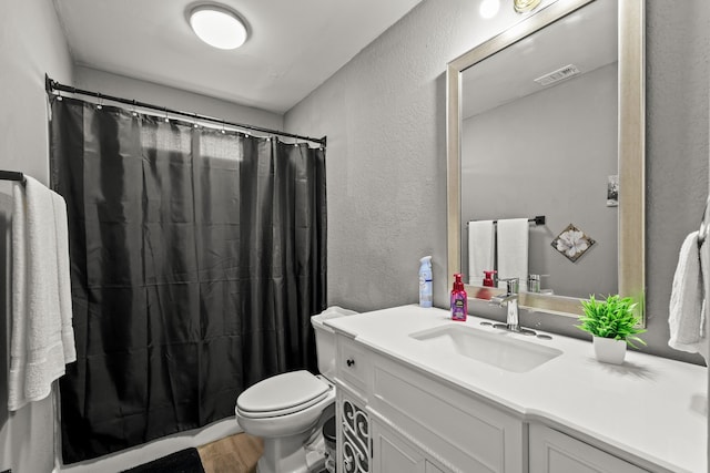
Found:
[[541, 424], [530, 424], [529, 473], [643, 473], [577, 439]]

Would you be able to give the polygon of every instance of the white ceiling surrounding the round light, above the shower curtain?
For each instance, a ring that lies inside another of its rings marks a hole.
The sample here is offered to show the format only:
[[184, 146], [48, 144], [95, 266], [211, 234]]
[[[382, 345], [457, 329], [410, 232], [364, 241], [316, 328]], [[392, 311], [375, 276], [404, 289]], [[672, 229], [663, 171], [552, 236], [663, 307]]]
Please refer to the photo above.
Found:
[[221, 0], [248, 23], [232, 51], [190, 29], [185, 9], [201, 2], [53, 1], [78, 65], [281, 114], [422, 0]]

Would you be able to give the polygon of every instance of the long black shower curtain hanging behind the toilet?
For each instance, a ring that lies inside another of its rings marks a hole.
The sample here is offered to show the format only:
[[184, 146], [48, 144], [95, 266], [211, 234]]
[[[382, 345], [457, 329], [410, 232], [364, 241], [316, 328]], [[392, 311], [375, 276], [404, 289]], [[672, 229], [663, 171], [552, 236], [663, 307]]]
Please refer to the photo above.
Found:
[[234, 414], [277, 372], [315, 371], [325, 308], [325, 151], [52, 100], [78, 361], [64, 463]]

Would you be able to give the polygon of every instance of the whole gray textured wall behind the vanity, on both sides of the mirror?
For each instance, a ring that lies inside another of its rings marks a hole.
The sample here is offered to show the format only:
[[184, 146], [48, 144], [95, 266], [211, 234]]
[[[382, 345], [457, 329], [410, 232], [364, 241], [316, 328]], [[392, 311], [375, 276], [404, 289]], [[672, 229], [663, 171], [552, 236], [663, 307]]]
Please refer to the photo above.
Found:
[[[678, 250], [708, 194], [710, 2], [647, 1], [646, 352], [668, 348]], [[488, 23], [478, 2], [425, 0], [285, 116], [327, 135], [328, 302], [371, 310], [417, 300], [417, 263], [434, 256], [435, 305], [447, 307], [446, 63], [514, 19]], [[501, 310], [471, 310], [503, 318]], [[529, 326], [582, 337], [565, 317]]]

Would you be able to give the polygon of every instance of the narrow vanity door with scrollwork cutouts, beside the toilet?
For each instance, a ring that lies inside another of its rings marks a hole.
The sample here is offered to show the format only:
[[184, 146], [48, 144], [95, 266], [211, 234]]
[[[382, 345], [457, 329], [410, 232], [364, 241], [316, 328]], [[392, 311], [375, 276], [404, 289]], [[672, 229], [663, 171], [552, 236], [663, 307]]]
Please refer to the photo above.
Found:
[[369, 473], [371, 433], [367, 413], [357, 405], [357, 401], [344, 395], [338, 397], [338, 472]]

